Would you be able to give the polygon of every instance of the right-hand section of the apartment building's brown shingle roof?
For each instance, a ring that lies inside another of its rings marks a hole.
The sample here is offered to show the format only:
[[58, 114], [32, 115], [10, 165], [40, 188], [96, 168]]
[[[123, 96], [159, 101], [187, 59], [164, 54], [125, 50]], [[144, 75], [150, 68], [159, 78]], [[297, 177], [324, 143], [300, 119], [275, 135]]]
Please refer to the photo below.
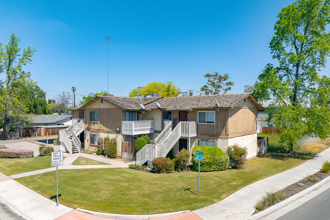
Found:
[[[257, 103], [251, 93], [238, 94], [222, 94], [222, 95], [205, 95], [205, 96], [183, 96], [183, 97], [167, 97], [157, 101], [161, 105], [162, 110], [177, 111], [177, 110], [192, 110], [215, 108], [215, 101], [219, 103], [218, 108], [233, 108], [242, 100], [249, 98], [253, 104], [258, 107], [259, 111], [264, 109]], [[156, 109], [156, 102], [148, 105], [146, 110]]]

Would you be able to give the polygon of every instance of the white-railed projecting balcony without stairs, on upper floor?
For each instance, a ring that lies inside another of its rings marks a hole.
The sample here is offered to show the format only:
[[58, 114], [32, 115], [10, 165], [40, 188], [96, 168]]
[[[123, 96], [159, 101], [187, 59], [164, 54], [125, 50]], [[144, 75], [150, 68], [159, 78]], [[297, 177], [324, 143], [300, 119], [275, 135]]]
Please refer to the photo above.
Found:
[[153, 133], [153, 121], [121, 121], [123, 135], [144, 135]]

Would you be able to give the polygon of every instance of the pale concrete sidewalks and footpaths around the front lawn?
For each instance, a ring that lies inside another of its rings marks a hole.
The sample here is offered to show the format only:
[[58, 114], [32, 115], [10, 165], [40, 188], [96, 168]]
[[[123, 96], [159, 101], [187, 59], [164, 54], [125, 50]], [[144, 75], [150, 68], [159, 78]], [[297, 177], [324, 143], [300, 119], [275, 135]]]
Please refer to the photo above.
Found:
[[[97, 166], [112, 166], [112, 167], [121, 167], [128, 166], [126, 163], [110, 160], [107, 158], [97, 157], [94, 155], [88, 154], [74, 154], [74, 155], [65, 155], [67, 158], [64, 160], [66, 165], [61, 166], [61, 169], [84, 169], [84, 168], [96, 168], [96, 166], [73, 166], [69, 163], [74, 161], [74, 158], [78, 156], [82, 156], [85, 158], [102, 161], [108, 160], [109, 165], [97, 165]], [[215, 204], [194, 210], [190, 216], [182, 216], [179, 217], [177, 215], [164, 217], [162, 220], [169, 219], [235, 219], [242, 220], [250, 217], [254, 212], [255, 203], [265, 195], [266, 192], [269, 191], [278, 191], [286, 186], [299, 181], [302, 178], [305, 178], [308, 175], [316, 173], [320, 170], [320, 166], [324, 160], [330, 159], [330, 149], [326, 149], [325, 151], [318, 154], [314, 159], [308, 160], [304, 164], [295, 167], [291, 170], [285, 171], [283, 173], [279, 173], [268, 178], [259, 180], [254, 182], [238, 191], [234, 194], [228, 196], [220, 202]], [[73, 167], [73, 168], [71, 168]], [[54, 168], [49, 168], [54, 169]], [[47, 170], [47, 171], [45, 171]], [[50, 170], [45, 169], [40, 171], [41, 173], [49, 172]], [[39, 172], [39, 171], [38, 171]], [[29, 172], [32, 175], [32, 172]], [[24, 174], [24, 173], [23, 173]], [[36, 174], [36, 173], [34, 173]], [[21, 174], [17, 174], [21, 175]], [[12, 175], [10, 177], [17, 178], [17, 175]], [[25, 173], [26, 175], [26, 173]], [[76, 215], [78, 210], [74, 212], [72, 208], [66, 207], [64, 205], [59, 205], [58, 207], [54, 206], [55, 202], [45, 198], [44, 196], [34, 192], [33, 190], [25, 187], [24, 185], [16, 182], [12, 178], [10, 178], [2, 173], [0, 173], [0, 199], [3, 199], [8, 204], [11, 204], [14, 208], [19, 210], [23, 215], [26, 215], [28, 219], [68, 219], [64, 217], [60, 217], [62, 215], [71, 212], [71, 214], [67, 214], [67, 217], [71, 217]], [[1, 201], [0, 201], [1, 202]], [[80, 215], [80, 214], [77, 214]], [[72, 219], [102, 219], [99, 217], [95, 217], [93, 215], [88, 215], [81, 218], [73, 218]], [[185, 214], [188, 215], [188, 214]], [[133, 216], [130, 219], [142, 219], [142, 216]]]

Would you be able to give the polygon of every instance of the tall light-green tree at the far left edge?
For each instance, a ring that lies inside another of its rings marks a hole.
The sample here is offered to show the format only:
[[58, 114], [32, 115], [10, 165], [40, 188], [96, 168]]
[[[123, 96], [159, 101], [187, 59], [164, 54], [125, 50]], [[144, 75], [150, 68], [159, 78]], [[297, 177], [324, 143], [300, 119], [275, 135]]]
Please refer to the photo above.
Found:
[[22, 94], [26, 90], [33, 91], [36, 83], [31, 80], [30, 72], [23, 71], [22, 66], [31, 63], [35, 49], [28, 47], [19, 54], [18, 43], [19, 38], [15, 34], [10, 36], [5, 47], [0, 43], [0, 74], [5, 75], [5, 79], [0, 81], [0, 114], [4, 116], [4, 131], [9, 121], [20, 121], [26, 126], [32, 122], [32, 118], [26, 115], [29, 108]]

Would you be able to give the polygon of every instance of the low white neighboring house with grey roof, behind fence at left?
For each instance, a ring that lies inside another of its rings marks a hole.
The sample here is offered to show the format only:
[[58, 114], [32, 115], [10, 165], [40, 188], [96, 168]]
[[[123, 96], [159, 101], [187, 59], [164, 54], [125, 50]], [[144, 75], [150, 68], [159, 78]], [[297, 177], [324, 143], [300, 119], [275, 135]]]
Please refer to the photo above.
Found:
[[[33, 126], [47, 126], [47, 125], [71, 125], [72, 114], [67, 115], [53, 115], [53, 114], [39, 114], [32, 115], [33, 122], [30, 127]], [[26, 128], [23, 123], [9, 123], [9, 126], [16, 126], [16, 128]]]

